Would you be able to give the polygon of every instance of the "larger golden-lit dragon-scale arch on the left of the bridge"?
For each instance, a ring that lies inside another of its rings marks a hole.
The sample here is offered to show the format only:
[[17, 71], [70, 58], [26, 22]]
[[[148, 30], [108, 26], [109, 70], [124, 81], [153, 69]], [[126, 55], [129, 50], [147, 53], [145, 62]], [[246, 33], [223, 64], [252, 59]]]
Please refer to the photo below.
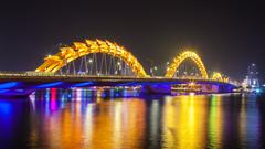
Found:
[[106, 53], [114, 57], [118, 57], [131, 68], [137, 77], [148, 76], [138, 60], [125, 47], [102, 40], [86, 40], [85, 43], [74, 42], [73, 46], [61, 47], [61, 52], [57, 54], [45, 57], [44, 63], [39, 66], [35, 72], [55, 73], [67, 63], [93, 53]]

